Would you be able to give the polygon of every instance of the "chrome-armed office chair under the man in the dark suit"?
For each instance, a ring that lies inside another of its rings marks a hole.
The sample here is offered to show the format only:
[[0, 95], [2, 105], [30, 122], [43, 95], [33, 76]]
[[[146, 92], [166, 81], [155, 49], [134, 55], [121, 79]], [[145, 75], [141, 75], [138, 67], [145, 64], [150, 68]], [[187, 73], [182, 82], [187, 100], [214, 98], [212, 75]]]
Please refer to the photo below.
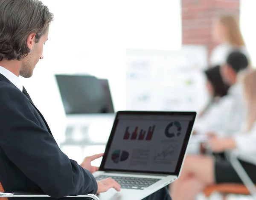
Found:
[[[15, 195], [15, 196], [14, 196]], [[17, 196], [18, 195], [18, 196]], [[4, 192], [2, 183], [0, 183], [0, 200], [9, 200], [12, 197], [50, 197], [46, 194], [29, 194], [29, 193], [6, 193]], [[84, 200], [100, 200], [95, 194], [86, 194], [86, 195], [79, 195], [79, 196], [67, 196], [72, 197], [76, 200], [77, 197], [84, 198]]]

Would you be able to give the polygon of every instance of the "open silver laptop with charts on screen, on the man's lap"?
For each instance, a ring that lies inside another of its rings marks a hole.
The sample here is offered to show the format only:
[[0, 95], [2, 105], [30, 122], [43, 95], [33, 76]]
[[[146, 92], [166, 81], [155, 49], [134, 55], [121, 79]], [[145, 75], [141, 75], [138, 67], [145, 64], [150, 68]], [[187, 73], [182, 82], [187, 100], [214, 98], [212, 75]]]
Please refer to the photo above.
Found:
[[141, 200], [176, 180], [195, 122], [195, 112], [119, 111], [96, 180], [112, 177], [101, 200]]

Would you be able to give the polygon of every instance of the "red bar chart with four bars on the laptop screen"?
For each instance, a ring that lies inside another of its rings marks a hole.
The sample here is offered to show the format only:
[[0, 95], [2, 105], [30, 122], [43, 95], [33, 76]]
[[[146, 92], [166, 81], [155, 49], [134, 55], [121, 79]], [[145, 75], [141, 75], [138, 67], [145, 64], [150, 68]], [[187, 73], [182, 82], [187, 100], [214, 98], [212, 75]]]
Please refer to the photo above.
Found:
[[125, 133], [124, 133], [124, 140], [140, 140], [140, 141], [151, 141], [154, 130], [155, 130], [155, 125], [148, 127], [147, 130], [140, 129], [138, 126], [134, 128], [132, 132], [130, 130], [130, 127], [126, 127]]

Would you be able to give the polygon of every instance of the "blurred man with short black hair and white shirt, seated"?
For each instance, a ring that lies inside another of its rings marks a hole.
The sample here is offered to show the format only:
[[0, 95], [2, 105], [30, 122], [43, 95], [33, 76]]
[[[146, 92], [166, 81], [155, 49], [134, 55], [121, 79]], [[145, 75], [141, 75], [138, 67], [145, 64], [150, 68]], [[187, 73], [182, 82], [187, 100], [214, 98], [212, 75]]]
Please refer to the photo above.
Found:
[[196, 125], [195, 132], [198, 134], [214, 132], [219, 136], [227, 136], [240, 130], [246, 115], [246, 109], [239, 75], [247, 67], [247, 57], [240, 51], [233, 51], [229, 54], [226, 64], [220, 68], [224, 82], [230, 85], [228, 93], [218, 103], [218, 109], [215, 109], [214, 117]]

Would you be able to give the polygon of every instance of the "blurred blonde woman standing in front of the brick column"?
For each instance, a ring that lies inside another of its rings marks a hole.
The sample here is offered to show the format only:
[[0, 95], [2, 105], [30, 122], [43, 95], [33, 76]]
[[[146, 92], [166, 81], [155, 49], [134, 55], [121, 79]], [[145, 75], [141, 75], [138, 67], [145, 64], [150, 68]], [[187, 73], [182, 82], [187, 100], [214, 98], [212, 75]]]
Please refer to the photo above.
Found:
[[212, 50], [210, 65], [224, 64], [227, 55], [235, 49], [248, 56], [239, 23], [234, 16], [222, 15], [218, 17], [212, 27], [212, 36], [219, 45]]

